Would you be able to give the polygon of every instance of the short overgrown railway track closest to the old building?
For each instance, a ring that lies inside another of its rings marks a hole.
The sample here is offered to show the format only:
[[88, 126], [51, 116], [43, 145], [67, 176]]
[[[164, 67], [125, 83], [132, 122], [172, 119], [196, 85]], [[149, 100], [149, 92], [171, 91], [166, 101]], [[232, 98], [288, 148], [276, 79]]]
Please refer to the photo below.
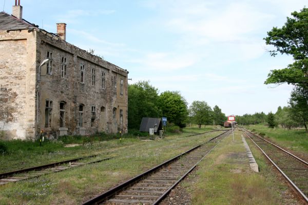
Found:
[[[94, 157], [97, 159], [91, 160]], [[26, 179], [30, 179], [34, 177], [39, 177], [45, 174], [60, 172], [60, 171], [64, 171], [70, 168], [88, 165], [90, 163], [98, 163], [98, 162], [105, 161], [111, 158], [113, 157], [102, 159], [100, 158], [99, 155], [91, 155], [91, 156], [69, 159], [65, 161], [59, 161], [55, 163], [49, 163], [48, 165], [42, 165], [42, 166], [31, 167], [31, 168], [22, 169], [22, 170], [15, 170], [15, 171], [6, 172], [6, 173], [0, 173], [0, 186], [5, 185], [6, 183], [10, 183], [10, 182], [26, 180]], [[89, 161], [81, 162], [81, 160], [86, 160], [86, 159], [89, 159]]]

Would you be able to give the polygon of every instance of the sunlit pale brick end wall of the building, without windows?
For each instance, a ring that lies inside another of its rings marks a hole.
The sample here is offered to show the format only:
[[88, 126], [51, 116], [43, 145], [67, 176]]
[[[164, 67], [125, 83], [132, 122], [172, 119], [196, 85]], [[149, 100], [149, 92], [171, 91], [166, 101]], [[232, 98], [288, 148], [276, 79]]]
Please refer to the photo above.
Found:
[[34, 39], [27, 30], [0, 31], [0, 130], [7, 139], [34, 136]]

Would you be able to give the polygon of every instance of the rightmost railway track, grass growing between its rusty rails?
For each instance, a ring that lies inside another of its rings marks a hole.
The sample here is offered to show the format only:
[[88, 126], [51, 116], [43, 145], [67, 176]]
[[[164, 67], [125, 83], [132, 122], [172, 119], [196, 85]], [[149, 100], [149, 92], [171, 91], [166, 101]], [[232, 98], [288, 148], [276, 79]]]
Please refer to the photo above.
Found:
[[308, 204], [308, 162], [278, 147], [266, 139], [246, 131], [246, 136], [263, 152], [276, 169]]

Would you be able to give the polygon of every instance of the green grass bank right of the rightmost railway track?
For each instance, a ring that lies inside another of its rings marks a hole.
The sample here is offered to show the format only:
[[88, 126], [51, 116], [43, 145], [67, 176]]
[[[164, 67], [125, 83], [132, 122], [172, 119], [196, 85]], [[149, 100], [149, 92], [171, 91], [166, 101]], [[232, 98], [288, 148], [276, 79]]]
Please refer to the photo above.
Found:
[[268, 137], [285, 148], [308, 153], [308, 135], [304, 130], [271, 129], [264, 124], [251, 125], [246, 128], [257, 134], [264, 133], [265, 137]]

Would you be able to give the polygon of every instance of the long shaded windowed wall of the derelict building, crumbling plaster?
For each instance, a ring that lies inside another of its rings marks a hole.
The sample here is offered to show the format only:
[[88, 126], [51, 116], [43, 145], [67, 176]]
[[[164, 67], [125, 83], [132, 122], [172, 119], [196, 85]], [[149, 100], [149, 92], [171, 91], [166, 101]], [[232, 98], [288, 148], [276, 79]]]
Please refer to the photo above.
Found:
[[[37, 59], [43, 61], [47, 51], [53, 53], [52, 75], [43, 69], [41, 80], [38, 81], [38, 126], [52, 134], [59, 134], [60, 128], [60, 102], [65, 101], [66, 128], [68, 134], [80, 134], [79, 106], [84, 105], [83, 128], [86, 134], [95, 132], [127, 131], [127, 72], [98, 56], [85, 50], [44, 34], [37, 33]], [[61, 77], [61, 57], [66, 57], [66, 77]], [[80, 82], [80, 65], [85, 66], [85, 82]], [[95, 68], [95, 86], [91, 84], [92, 68]], [[102, 89], [102, 72], [105, 72], [105, 89]], [[117, 77], [117, 92], [113, 92], [113, 79]], [[124, 80], [123, 95], [120, 95], [120, 79]], [[52, 100], [52, 125], [45, 128], [46, 99]], [[94, 125], [91, 126], [91, 106], [95, 106]], [[105, 109], [101, 112], [101, 107]], [[120, 108], [123, 109], [123, 125], [120, 127]], [[112, 109], [117, 108], [117, 118], [112, 119]]]

